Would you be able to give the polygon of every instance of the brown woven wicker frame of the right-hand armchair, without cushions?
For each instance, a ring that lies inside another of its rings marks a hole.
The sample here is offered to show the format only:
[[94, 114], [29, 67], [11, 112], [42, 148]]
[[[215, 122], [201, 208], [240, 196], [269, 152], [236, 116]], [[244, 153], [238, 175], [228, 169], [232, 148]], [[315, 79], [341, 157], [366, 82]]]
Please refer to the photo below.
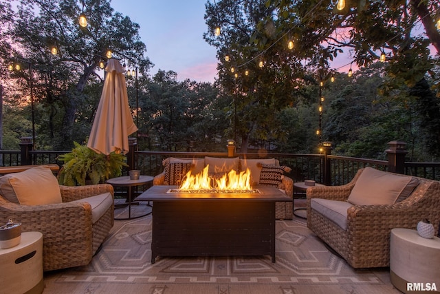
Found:
[[416, 229], [428, 218], [439, 229], [440, 182], [419, 179], [410, 196], [395, 204], [354, 205], [347, 210], [347, 230], [311, 209], [312, 198], [346, 201], [363, 169], [347, 185], [307, 189], [307, 227], [354, 268], [389, 266], [393, 228]]

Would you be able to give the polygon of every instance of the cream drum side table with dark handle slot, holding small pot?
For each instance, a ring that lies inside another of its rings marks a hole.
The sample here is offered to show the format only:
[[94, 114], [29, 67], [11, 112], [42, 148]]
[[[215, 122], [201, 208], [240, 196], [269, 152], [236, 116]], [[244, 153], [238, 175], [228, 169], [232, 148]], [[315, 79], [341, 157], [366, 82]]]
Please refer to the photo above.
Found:
[[21, 233], [21, 242], [0, 249], [0, 293], [43, 293], [43, 234]]

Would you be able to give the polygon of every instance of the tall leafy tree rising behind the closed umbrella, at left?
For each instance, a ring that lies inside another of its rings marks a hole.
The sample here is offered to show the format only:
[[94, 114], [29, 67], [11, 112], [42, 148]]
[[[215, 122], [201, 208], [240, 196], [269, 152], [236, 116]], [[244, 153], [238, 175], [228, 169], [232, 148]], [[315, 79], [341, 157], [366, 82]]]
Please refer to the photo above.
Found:
[[[17, 13], [3, 18], [7, 30], [1, 34], [0, 58], [6, 64], [15, 58], [32, 64], [36, 102], [50, 109], [47, 129], [57, 138], [54, 147], [71, 147], [80, 106], [93, 104], [85, 88], [102, 80], [98, 64], [107, 60], [107, 50], [115, 58], [136, 63], [143, 73], [151, 67], [144, 56], [139, 25], [114, 12], [109, 0], [12, 2], [17, 2]], [[5, 7], [3, 1], [1, 8]], [[87, 15], [87, 28], [78, 26], [82, 11]], [[58, 50], [55, 56], [50, 53], [52, 47]]]

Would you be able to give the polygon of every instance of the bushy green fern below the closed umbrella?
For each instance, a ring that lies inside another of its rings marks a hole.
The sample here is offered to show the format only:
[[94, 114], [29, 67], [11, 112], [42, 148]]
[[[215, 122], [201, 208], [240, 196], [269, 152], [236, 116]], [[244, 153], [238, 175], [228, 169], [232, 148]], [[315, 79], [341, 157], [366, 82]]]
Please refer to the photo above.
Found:
[[64, 162], [58, 182], [66, 186], [103, 183], [121, 176], [122, 167], [128, 166], [124, 154], [98, 154], [87, 145], [76, 142], [72, 152], [62, 154], [58, 159]]

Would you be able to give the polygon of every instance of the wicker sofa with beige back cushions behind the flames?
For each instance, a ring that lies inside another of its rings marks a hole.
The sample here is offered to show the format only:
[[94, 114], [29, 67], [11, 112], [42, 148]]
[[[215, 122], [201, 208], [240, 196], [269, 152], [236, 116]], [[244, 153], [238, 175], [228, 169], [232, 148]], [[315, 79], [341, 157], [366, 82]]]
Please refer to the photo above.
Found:
[[[217, 171], [217, 174], [224, 174], [230, 169], [234, 169], [236, 171], [245, 171], [246, 168], [249, 168], [251, 173], [251, 180], [254, 185], [270, 185], [268, 182], [263, 182], [263, 180], [260, 179], [261, 171], [263, 170], [261, 164], [264, 164], [265, 166], [274, 165], [279, 167], [278, 160], [274, 158], [250, 160], [243, 160], [239, 158], [211, 158], [208, 156], [206, 156], [205, 158], [165, 158], [162, 162], [162, 165], [164, 166], [164, 171], [162, 171], [161, 174], [155, 176], [155, 178], [153, 179], [153, 185], [170, 185], [170, 183], [168, 182], [169, 178], [167, 174], [169, 170], [171, 170], [171, 173], [173, 173], [173, 169], [170, 169], [169, 165], [170, 163], [178, 162], [191, 162], [192, 174], [199, 173], [204, 167], [206, 167], [206, 165], [209, 165], [211, 171]], [[290, 170], [288, 167], [283, 167], [283, 169], [285, 171]], [[180, 176], [182, 176], [182, 173]], [[269, 176], [268, 178], [271, 178], [271, 176]], [[254, 185], [252, 186], [254, 187]], [[292, 178], [281, 176], [281, 182], [279, 182], [278, 189], [285, 191], [286, 195], [293, 200], [294, 181], [292, 180]], [[292, 202], [276, 202], [275, 217], [277, 219], [292, 220]]]

